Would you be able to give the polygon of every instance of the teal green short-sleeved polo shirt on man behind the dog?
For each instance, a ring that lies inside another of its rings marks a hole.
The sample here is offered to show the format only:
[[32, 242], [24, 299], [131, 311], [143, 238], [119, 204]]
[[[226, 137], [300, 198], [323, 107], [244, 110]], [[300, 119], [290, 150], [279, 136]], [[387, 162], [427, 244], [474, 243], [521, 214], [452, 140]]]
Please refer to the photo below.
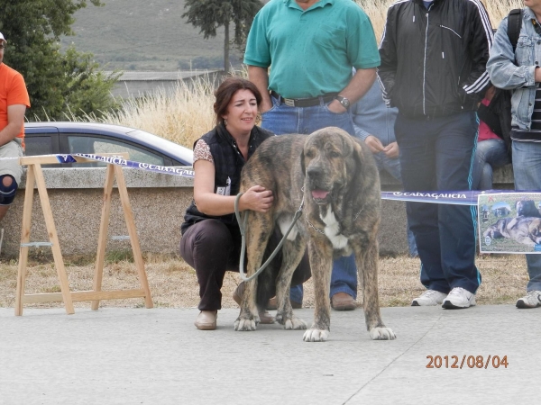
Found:
[[255, 16], [246, 65], [271, 67], [269, 88], [286, 98], [339, 92], [352, 67], [378, 67], [371, 21], [353, 0], [320, 0], [304, 11], [295, 0], [271, 0]]

